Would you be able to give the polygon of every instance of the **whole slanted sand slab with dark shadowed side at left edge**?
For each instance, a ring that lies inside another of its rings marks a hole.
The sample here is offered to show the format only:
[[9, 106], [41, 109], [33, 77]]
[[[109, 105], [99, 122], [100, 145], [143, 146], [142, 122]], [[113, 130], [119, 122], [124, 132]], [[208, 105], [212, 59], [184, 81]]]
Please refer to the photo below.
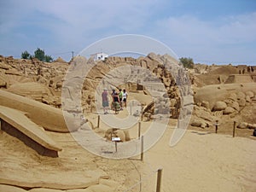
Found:
[[44, 128], [32, 122], [26, 114], [13, 108], [0, 106], [1, 130], [19, 138], [23, 143], [35, 149], [38, 154], [57, 157], [61, 148], [44, 131]]

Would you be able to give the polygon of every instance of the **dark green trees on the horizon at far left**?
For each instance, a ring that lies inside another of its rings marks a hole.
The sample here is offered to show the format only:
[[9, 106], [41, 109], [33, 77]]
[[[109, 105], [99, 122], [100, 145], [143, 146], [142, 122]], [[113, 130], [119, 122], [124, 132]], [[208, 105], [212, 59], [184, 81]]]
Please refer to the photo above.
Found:
[[34, 51], [34, 55], [31, 55], [27, 50], [23, 51], [21, 53], [21, 59], [32, 59], [32, 58], [37, 58], [39, 61], [44, 61], [44, 62], [52, 62], [53, 58], [50, 55], [46, 55], [44, 52], [44, 49], [36, 49]]

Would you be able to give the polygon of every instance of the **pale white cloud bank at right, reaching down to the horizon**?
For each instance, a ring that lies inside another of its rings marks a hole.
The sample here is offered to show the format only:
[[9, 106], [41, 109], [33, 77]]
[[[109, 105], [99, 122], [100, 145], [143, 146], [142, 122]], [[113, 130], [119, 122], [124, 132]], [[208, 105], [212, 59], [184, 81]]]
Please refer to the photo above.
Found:
[[183, 55], [205, 61], [256, 61], [256, 12], [212, 21], [183, 15], [158, 20], [156, 26], [154, 35]]

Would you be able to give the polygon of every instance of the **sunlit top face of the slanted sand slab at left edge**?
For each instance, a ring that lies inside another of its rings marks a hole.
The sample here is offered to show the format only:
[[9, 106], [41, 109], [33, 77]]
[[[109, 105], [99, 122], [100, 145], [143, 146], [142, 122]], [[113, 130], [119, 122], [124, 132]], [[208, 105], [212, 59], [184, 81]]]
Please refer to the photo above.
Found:
[[[44, 131], [44, 128], [33, 123], [28, 119], [25, 113], [22, 113], [13, 108], [6, 108], [0, 106], [0, 119], [12, 125], [18, 131], [22, 132], [27, 137], [31, 138], [36, 143], [54, 151], [61, 151], [61, 148], [57, 146]], [[4, 127], [2, 127], [3, 129]]]

